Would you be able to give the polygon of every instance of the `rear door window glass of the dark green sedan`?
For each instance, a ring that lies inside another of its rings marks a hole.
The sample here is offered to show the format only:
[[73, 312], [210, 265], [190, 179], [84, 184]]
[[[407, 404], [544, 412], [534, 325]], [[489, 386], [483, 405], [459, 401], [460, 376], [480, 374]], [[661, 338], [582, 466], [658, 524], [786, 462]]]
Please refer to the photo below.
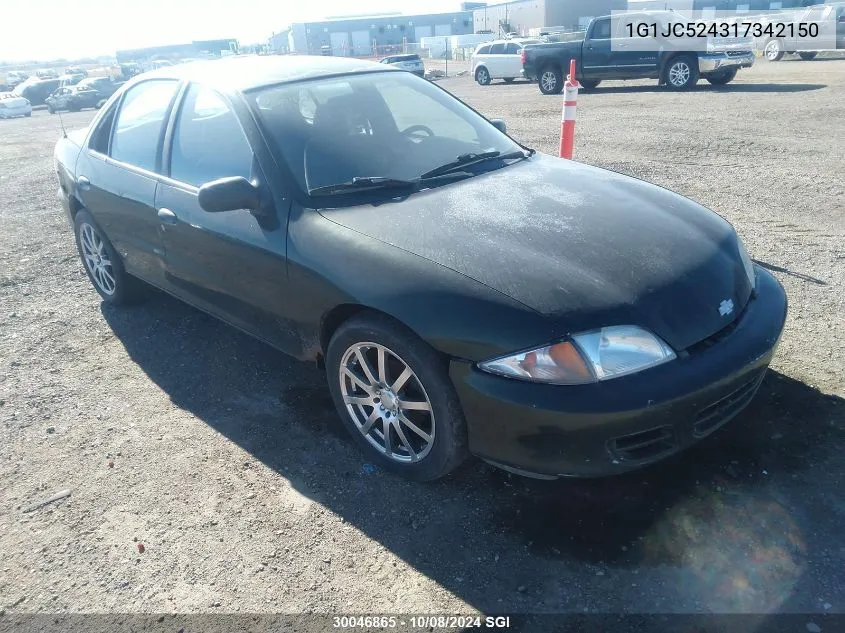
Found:
[[112, 134], [112, 158], [156, 170], [164, 121], [177, 87], [176, 81], [145, 81], [124, 95]]

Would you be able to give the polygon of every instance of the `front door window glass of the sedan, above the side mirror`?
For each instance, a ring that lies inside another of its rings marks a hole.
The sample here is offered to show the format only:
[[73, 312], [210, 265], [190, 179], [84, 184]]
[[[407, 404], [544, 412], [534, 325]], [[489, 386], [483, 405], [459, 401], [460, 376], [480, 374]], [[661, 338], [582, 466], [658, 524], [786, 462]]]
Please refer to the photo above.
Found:
[[170, 156], [170, 177], [194, 187], [251, 177], [252, 149], [237, 116], [219, 94], [196, 84], [179, 112]]

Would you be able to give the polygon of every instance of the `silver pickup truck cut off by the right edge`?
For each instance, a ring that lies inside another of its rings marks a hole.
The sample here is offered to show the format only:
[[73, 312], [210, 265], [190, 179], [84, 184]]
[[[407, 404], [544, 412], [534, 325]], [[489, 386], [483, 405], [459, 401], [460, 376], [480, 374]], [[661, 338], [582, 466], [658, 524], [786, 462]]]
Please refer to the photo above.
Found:
[[[821, 50], [845, 50], [845, 2], [830, 2], [807, 7], [806, 10], [794, 14], [794, 20], [775, 16], [768, 23], [772, 25], [785, 23], [792, 26], [783, 29], [785, 37], [777, 37], [781, 34], [780, 27], [773, 30], [768, 36], [764, 35], [758, 40], [762, 42], [763, 54], [770, 62], [777, 62], [783, 59], [786, 54], [797, 53], [804, 61], [815, 59]], [[818, 38], [800, 37], [802, 34], [801, 25], [809, 29], [810, 25], [816, 25], [820, 36]], [[763, 23], [763, 27], [766, 23]], [[829, 44], [829, 48], [820, 49], [816, 46], [819, 42]]]

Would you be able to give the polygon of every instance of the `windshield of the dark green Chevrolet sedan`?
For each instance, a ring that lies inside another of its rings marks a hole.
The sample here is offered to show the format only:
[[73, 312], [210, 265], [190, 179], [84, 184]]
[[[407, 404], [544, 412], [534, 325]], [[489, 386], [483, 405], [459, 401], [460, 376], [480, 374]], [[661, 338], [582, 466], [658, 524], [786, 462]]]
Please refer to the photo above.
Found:
[[481, 115], [411, 73], [289, 83], [248, 96], [303, 191], [355, 178], [416, 180], [462, 155], [521, 149]]

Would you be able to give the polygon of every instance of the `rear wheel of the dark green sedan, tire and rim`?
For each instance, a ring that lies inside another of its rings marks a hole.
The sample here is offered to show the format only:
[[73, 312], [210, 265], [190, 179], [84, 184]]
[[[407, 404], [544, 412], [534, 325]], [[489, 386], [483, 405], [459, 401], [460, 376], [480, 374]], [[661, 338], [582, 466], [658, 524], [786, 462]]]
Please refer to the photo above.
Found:
[[[78, 211], [73, 226], [82, 267], [103, 301], [112, 305], [127, 305], [137, 301], [141, 296], [142, 282], [127, 274], [120, 256], [91, 214], [84, 209]], [[101, 248], [98, 248], [99, 245], [102, 245]], [[97, 252], [99, 258], [94, 259], [96, 254], [94, 257], [89, 256], [89, 253]]]

